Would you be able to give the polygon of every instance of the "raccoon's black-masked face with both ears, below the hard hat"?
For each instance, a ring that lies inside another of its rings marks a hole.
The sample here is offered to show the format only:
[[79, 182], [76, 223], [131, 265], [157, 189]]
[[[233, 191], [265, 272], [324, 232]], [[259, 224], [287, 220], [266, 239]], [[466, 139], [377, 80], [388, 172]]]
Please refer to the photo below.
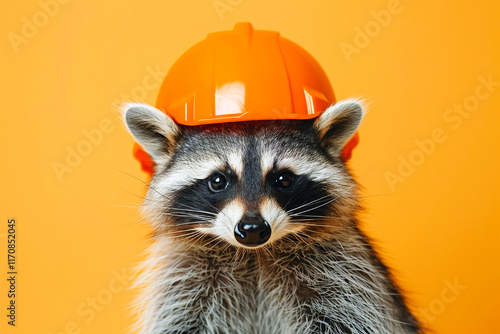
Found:
[[127, 127], [155, 163], [145, 212], [157, 235], [193, 243], [257, 248], [331, 235], [357, 209], [340, 153], [362, 114], [346, 100], [313, 120], [187, 127], [127, 105]]

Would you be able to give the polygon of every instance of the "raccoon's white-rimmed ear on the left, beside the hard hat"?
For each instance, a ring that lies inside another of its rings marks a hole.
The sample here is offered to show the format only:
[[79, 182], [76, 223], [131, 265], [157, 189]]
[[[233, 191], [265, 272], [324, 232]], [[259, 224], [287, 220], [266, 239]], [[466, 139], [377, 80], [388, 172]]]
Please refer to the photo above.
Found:
[[153, 161], [172, 154], [180, 130], [164, 112], [147, 104], [129, 103], [123, 109], [123, 118], [132, 136]]

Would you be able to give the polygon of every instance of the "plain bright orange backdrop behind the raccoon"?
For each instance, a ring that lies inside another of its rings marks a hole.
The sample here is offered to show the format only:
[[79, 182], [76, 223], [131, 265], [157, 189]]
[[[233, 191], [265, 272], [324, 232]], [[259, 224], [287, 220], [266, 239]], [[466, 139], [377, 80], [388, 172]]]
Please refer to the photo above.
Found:
[[[419, 317], [436, 333], [498, 332], [500, 86], [488, 91], [479, 78], [500, 81], [500, 2], [401, 0], [383, 26], [375, 17], [389, 1], [67, 2], [2, 10], [2, 333], [126, 332], [135, 292], [122, 274], [147, 245], [137, 222], [146, 177], [115, 104], [153, 104], [150, 72], [166, 72], [207, 33], [239, 21], [302, 45], [338, 99], [370, 103], [351, 163], [364, 186], [363, 228]], [[25, 39], [16, 45], [13, 36]], [[467, 117], [445, 119], [464, 103]], [[54, 164], [67, 165], [76, 149], [85, 156], [57, 174]], [[390, 186], [401, 159], [417, 166]], [[4, 316], [10, 217], [18, 228], [15, 328]]]

